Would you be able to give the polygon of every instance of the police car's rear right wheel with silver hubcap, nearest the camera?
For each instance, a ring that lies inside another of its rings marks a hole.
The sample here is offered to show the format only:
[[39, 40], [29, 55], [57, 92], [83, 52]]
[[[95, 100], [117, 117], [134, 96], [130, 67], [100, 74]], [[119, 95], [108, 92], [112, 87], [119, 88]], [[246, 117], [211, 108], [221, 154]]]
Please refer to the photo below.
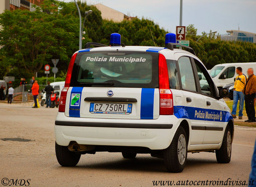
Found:
[[178, 127], [172, 143], [163, 150], [163, 161], [166, 170], [171, 173], [180, 173], [183, 171], [187, 160], [187, 135], [183, 127]]

